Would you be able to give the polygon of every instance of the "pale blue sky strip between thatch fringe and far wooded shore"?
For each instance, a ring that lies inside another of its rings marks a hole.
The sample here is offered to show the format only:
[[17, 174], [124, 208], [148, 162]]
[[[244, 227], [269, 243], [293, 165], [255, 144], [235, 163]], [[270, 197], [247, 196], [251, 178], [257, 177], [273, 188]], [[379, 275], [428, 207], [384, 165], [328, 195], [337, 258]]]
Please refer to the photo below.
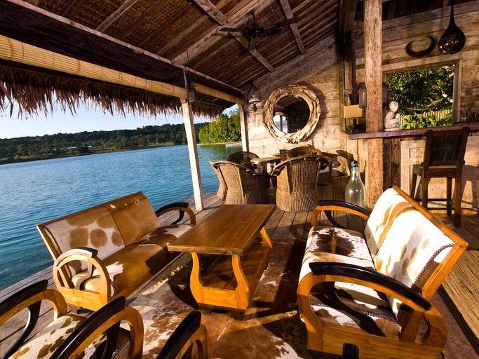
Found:
[[[13, 110], [10, 113], [0, 111], [0, 138], [13, 138], [25, 136], [43, 136], [54, 135], [55, 133], [79, 133], [83, 131], [95, 130], [128, 130], [142, 128], [144, 126], [162, 126], [166, 123], [183, 123], [181, 115], [150, 118], [147, 116], [127, 115], [123, 118], [121, 115], [112, 116], [103, 114], [101, 109], [87, 109], [81, 107], [76, 109], [76, 115], [72, 116], [67, 112], [64, 114], [56, 110], [53, 114], [26, 118], [20, 118], [18, 111]], [[208, 122], [208, 118], [195, 118], [194, 123]]]

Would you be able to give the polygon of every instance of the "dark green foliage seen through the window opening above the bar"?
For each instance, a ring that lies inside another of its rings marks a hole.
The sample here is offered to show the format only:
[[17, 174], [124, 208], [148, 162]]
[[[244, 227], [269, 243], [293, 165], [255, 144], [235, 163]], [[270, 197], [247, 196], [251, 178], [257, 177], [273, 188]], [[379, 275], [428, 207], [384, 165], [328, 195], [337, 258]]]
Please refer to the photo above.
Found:
[[452, 109], [454, 66], [429, 67], [387, 76], [389, 100], [400, 114]]

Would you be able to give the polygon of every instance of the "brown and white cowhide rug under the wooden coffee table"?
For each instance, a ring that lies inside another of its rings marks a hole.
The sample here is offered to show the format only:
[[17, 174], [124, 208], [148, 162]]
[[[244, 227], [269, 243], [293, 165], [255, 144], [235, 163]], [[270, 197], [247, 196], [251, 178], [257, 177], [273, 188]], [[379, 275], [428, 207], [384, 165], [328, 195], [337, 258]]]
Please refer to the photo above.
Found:
[[[227, 311], [201, 311], [213, 358], [310, 358], [306, 327], [299, 320], [296, 304], [305, 245], [302, 240], [273, 240], [272, 257], [243, 320]], [[198, 310], [188, 284], [191, 256], [180, 256], [173, 268], [128, 304], [143, 318], [144, 358], [156, 358], [182, 318]]]

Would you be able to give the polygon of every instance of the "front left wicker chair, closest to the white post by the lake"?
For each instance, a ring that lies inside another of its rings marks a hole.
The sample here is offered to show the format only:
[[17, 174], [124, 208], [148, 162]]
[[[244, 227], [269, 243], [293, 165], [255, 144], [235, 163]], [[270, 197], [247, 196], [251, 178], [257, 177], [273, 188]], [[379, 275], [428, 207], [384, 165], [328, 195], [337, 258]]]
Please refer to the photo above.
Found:
[[226, 205], [247, 205], [270, 202], [269, 175], [256, 174], [244, 165], [219, 161], [213, 165], [220, 170], [227, 187]]

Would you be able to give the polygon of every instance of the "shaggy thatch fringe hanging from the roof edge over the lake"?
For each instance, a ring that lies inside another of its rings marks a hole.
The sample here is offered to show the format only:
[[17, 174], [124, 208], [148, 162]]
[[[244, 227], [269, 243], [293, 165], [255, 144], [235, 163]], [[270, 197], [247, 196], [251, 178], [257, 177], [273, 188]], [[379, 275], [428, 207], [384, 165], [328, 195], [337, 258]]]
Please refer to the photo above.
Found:
[[[145, 90], [115, 86], [111, 83], [45, 73], [31, 69], [0, 66], [0, 110], [13, 114], [14, 101], [19, 116], [53, 113], [56, 106], [64, 112], [76, 113], [80, 104], [100, 107], [112, 115], [126, 114], [165, 116], [181, 114], [181, 102], [177, 97], [159, 95]], [[217, 118], [224, 107], [196, 103], [195, 116]]]

